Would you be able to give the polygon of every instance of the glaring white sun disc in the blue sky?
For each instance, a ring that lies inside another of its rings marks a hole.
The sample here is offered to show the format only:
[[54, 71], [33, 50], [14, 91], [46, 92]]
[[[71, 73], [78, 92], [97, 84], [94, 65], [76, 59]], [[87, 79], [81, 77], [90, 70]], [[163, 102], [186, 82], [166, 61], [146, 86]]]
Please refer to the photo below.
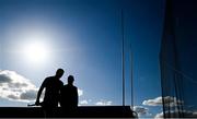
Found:
[[26, 44], [23, 48], [23, 56], [30, 62], [43, 63], [48, 60], [49, 48], [38, 41]]

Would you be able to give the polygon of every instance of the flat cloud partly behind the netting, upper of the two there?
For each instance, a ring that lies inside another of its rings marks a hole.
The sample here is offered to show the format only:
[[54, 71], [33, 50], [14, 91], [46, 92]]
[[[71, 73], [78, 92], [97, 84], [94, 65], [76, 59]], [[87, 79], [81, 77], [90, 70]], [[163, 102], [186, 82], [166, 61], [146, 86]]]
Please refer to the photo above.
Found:
[[[169, 105], [171, 107], [183, 104], [183, 100], [176, 99], [176, 97], [166, 96], [163, 99], [164, 99], [164, 104]], [[157, 97], [153, 99], [143, 100], [142, 105], [144, 105], [144, 106], [162, 106], [163, 100], [162, 100], [162, 97], [160, 96], [160, 97]]]

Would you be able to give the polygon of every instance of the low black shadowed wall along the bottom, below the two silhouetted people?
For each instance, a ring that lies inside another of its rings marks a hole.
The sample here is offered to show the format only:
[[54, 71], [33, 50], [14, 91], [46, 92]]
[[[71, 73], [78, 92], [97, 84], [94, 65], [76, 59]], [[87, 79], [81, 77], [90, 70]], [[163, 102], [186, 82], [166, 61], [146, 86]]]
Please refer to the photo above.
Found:
[[[134, 118], [129, 106], [79, 107], [76, 114], [66, 114], [56, 108], [55, 118]], [[0, 118], [44, 118], [40, 107], [1, 107]]]

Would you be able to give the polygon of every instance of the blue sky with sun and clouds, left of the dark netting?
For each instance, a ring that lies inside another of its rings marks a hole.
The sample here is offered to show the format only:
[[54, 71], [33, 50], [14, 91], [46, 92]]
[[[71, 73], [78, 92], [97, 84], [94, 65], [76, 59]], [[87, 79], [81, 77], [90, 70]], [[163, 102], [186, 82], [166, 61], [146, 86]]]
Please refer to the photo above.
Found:
[[[159, 52], [164, 0], [0, 0], [0, 106], [33, 103], [58, 68], [74, 75], [80, 105], [121, 105], [121, 9], [126, 105], [141, 117], [162, 111]], [[166, 97], [171, 99], [171, 97]]]

